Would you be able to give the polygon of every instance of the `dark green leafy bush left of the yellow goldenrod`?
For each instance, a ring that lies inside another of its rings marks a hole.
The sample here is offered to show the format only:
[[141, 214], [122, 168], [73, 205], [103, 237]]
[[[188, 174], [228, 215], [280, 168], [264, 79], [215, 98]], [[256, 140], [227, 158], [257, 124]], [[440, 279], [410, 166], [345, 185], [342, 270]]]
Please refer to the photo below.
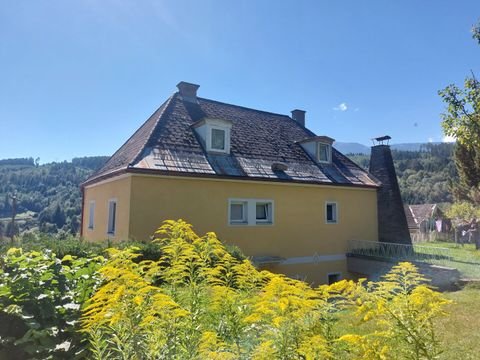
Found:
[[103, 258], [58, 259], [49, 250], [0, 256], [0, 357], [73, 357], [82, 350], [81, 306]]

